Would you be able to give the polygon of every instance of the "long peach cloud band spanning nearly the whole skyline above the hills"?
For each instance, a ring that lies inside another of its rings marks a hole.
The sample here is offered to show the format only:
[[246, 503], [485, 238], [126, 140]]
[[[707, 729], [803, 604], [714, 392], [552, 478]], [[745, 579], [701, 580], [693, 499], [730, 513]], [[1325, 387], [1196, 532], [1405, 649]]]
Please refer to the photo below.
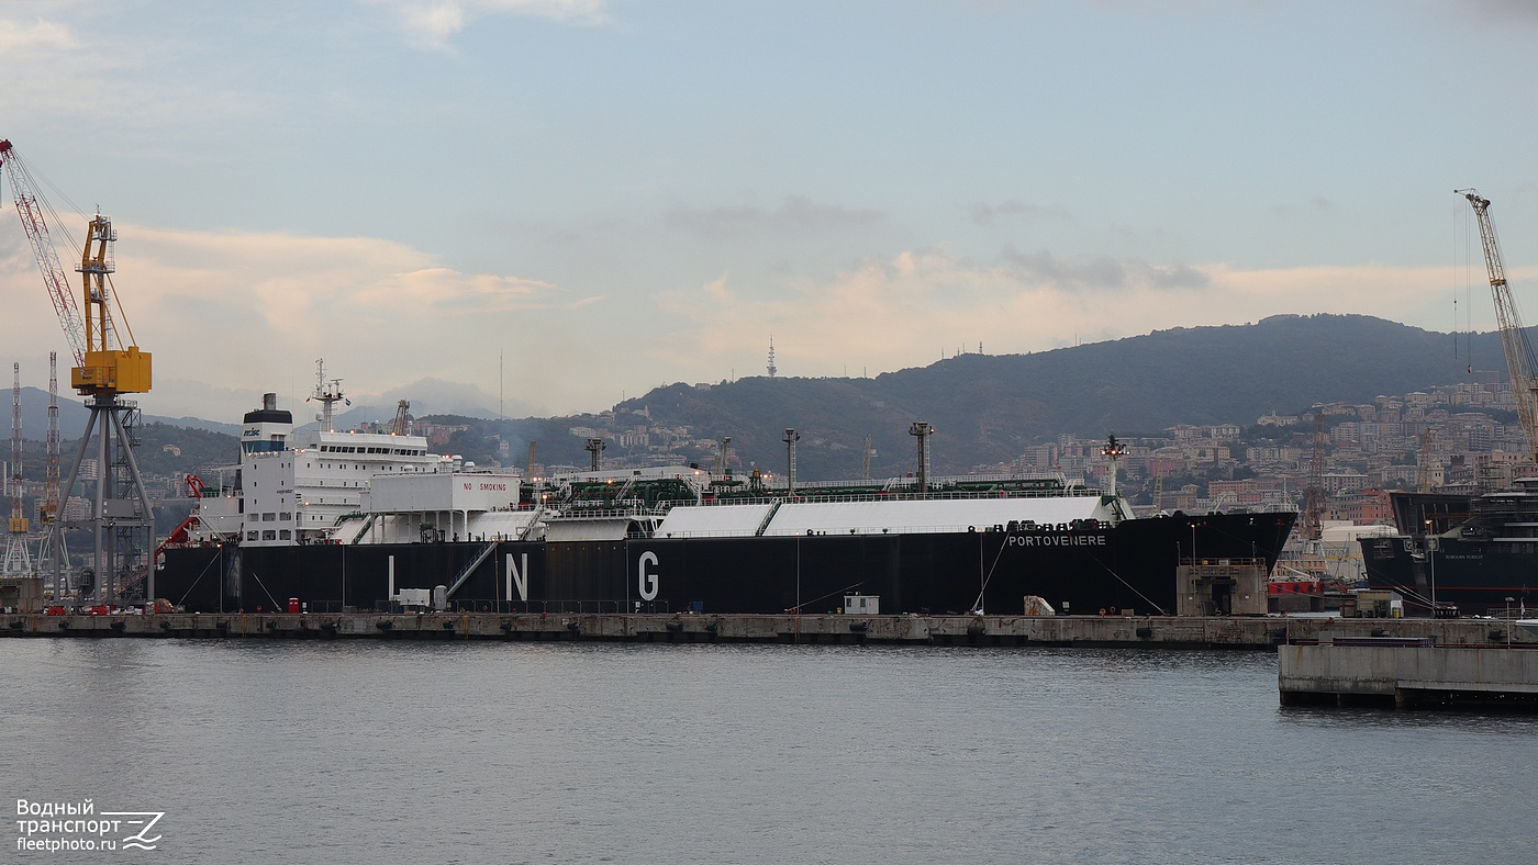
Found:
[[[1366, 313], [1447, 329], [1446, 267], [1237, 269], [1006, 250], [975, 263], [917, 249], [824, 277], [734, 277], [644, 298], [468, 273], [378, 238], [186, 232], [118, 223], [115, 286], [157, 387], [152, 415], [232, 419], [261, 392], [297, 406], [326, 358], [355, 399], [477, 403], [509, 415], [598, 410], [657, 384], [923, 366], [983, 343], [1014, 353], [1238, 324]], [[1512, 272], [1512, 278], [1538, 272]], [[62, 350], [31, 249], [0, 232], [0, 344], [29, 370]], [[1392, 309], [1384, 309], [1392, 298]], [[29, 373], [32, 375], [32, 373]]]

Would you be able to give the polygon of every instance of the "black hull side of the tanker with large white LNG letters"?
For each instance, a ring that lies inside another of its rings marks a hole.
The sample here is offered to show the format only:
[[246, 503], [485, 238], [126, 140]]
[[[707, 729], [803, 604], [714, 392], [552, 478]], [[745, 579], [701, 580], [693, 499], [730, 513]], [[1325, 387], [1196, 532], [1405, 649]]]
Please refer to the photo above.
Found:
[[[844, 595], [883, 613], [1018, 611], [1040, 595], [1058, 611], [1175, 610], [1175, 568], [1203, 559], [1275, 564], [1292, 513], [1130, 519], [1115, 529], [640, 538], [498, 542], [449, 598], [517, 611], [826, 613]], [[192, 547], [166, 552], [155, 593], [194, 611], [312, 611], [388, 604], [400, 588], [452, 587], [488, 544]]]

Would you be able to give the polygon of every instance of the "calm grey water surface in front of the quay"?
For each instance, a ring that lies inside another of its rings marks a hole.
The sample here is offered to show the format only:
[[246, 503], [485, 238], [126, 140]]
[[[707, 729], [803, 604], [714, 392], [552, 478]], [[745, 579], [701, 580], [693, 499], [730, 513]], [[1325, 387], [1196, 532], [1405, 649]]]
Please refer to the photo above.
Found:
[[1538, 719], [1267, 653], [8, 639], [0, 793], [105, 862], [1535, 862]]

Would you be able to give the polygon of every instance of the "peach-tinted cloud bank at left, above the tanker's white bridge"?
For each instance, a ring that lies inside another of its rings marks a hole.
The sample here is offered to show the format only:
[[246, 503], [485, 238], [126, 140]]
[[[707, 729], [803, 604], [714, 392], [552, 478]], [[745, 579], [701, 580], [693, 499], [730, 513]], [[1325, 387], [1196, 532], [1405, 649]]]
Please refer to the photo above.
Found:
[[[531, 317], [571, 300], [375, 238], [117, 229], [117, 298], [168, 386], [141, 399], [155, 415], [228, 419], [251, 393], [303, 396], [320, 356], [358, 393], [426, 376], [495, 393], [498, 352], [521, 350], [538, 330]], [[0, 234], [0, 284], [12, 298], [0, 343], [46, 356], [66, 343], [20, 234]]]

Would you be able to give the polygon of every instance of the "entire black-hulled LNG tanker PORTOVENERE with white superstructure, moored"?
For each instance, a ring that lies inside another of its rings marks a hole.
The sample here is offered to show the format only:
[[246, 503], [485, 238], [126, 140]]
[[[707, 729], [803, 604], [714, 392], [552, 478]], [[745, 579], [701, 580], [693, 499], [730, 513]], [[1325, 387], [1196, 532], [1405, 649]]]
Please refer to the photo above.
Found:
[[1269, 572], [1297, 519], [1135, 518], [1114, 482], [1057, 473], [791, 490], [664, 466], [526, 482], [432, 456], [420, 436], [323, 423], [295, 438], [272, 396], [246, 415], [229, 475], [157, 562], [155, 595], [189, 611], [374, 610], [431, 593], [474, 611], [1020, 613], [1044, 601], [1173, 613], [1183, 562]]

